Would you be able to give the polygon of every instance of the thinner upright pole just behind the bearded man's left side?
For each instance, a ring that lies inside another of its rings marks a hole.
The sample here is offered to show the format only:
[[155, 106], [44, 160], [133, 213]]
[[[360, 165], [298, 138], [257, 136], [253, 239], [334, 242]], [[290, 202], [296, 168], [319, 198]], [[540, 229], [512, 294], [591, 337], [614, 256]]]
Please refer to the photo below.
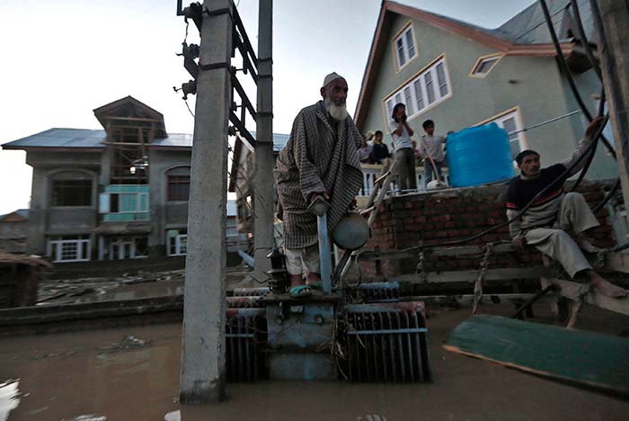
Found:
[[258, 118], [253, 177], [254, 276], [270, 270], [273, 246], [273, 1], [260, 0], [258, 18]]

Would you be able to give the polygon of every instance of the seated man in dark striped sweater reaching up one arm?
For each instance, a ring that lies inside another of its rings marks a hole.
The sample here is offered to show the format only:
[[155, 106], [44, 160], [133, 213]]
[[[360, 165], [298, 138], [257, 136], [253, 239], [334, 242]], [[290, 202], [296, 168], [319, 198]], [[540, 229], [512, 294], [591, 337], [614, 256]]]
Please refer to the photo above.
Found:
[[[514, 219], [537, 193], [546, 189], [544, 196], [536, 199], [521, 218], [513, 220], [509, 225], [513, 242], [520, 248], [524, 245], [535, 246], [545, 255], [559, 261], [571, 278], [583, 274], [598, 293], [620, 298], [625, 297], [629, 291], [607, 282], [594, 272], [581, 252], [581, 248], [596, 251], [584, 232], [598, 227], [598, 219], [583, 196], [563, 191], [565, 180], [578, 173], [587, 161], [587, 157], [583, 157], [577, 164], [577, 159], [592, 142], [592, 135], [601, 119], [594, 119], [589, 124], [585, 138], [580, 141], [572, 157], [563, 163], [540, 169], [539, 154], [536, 151], [528, 149], [518, 154], [516, 162], [521, 175], [514, 177], [509, 184], [507, 218]], [[567, 172], [570, 167], [571, 171]]]

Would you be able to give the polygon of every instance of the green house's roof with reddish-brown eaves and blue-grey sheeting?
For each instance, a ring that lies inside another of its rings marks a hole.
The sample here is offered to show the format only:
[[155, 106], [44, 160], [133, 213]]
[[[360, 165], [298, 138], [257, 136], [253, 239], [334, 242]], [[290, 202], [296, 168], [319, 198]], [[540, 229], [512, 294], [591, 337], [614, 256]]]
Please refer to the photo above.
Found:
[[[568, 1], [551, 0], [551, 13], [555, 15], [560, 14], [557, 10], [563, 10]], [[359, 130], [362, 130], [368, 103], [371, 101], [371, 93], [373, 91], [371, 88], [376, 82], [377, 74], [380, 70], [380, 63], [388, 45], [388, 37], [390, 36], [391, 24], [395, 14], [401, 14], [466, 39], [474, 40], [492, 49], [497, 49], [505, 55], [551, 57], [556, 55], [554, 46], [550, 43], [550, 36], [546, 40], [539, 35], [543, 30], [536, 31], [537, 27], [540, 26], [536, 22], [538, 14], [536, 12], [536, 4], [527, 7], [527, 9], [505, 22], [501, 27], [490, 30], [437, 13], [426, 12], [410, 5], [385, 0], [380, 7], [376, 31], [371, 41], [368, 62], [365, 67], [362, 84], [360, 85], [359, 102], [354, 114], [354, 121]], [[545, 24], [545, 21], [542, 22]], [[533, 31], [535, 31], [535, 35], [530, 35]], [[545, 28], [545, 31], [547, 33], [548, 29]], [[562, 43], [564, 55], [570, 55], [573, 48], [573, 43]]]

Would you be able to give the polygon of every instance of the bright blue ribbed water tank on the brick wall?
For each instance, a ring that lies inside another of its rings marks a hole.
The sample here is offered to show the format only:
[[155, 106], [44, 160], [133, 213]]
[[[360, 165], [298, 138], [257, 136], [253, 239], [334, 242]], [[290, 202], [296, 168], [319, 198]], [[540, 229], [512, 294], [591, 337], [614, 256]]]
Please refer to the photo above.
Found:
[[513, 176], [509, 135], [496, 123], [450, 134], [446, 151], [452, 187], [487, 184]]

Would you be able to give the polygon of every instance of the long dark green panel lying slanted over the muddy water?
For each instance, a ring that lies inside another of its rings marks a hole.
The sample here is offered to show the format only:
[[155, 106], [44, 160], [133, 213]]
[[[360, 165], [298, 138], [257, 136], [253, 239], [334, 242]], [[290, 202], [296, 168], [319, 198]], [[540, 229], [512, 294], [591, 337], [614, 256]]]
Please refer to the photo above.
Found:
[[624, 337], [474, 316], [456, 327], [443, 346], [549, 379], [629, 396], [629, 339]]

